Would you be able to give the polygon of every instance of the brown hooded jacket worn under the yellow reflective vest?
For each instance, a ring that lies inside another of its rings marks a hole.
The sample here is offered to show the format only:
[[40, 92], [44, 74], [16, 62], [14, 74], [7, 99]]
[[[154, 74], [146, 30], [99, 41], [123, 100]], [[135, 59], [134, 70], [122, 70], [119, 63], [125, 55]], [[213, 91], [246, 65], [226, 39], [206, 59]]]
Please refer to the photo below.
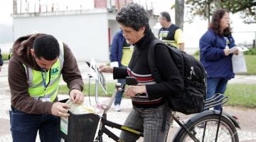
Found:
[[[30, 49], [33, 47], [33, 41], [38, 35], [26, 35], [18, 38], [12, 48], [12, 57], [9, 61], [8, 80], [11, 89], [11, 106], [19, 111], [28, 114], [51, 114], [53, 102], [41, 102], [33, 99], [28, 93], [28, 82], [26, 71], [23, 64], [40, 70], [35, 59], [31, 55]], [[68, 45], [64, 44], [64, 63], [61, 71], [63, 80], [67, 82], [68, 88], [82, 91], [83, 82], [78, 63]], [[58, 101], [58, 98], [55, 99]]]

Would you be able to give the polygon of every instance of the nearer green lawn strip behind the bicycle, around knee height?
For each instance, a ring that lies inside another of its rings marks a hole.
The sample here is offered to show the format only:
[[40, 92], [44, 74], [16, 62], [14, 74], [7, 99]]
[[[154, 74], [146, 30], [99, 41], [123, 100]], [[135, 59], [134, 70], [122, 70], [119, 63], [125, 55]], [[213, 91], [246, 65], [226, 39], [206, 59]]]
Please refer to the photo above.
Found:
[[[90, 85], [90, 90], [95, 90], [93, 84]], [[114, 92], [114, 83], [107, 84], [107, 95], [99, 89], [100, 96], [111, 97]], [[68, 94], [68, 87], [60, 85], [59, 94]], [[85, 84], [83, 93], [88, 95], [88, 84]], [[92, 95], [93, 94], [93, 95]], [[90, 92], [90, 96], [94, 96], [95, 92]], [[247, 108], [256, 108], [256, 84], [228, 84], [225, 94], [230, 97], [228, 106], [239, 106]]]

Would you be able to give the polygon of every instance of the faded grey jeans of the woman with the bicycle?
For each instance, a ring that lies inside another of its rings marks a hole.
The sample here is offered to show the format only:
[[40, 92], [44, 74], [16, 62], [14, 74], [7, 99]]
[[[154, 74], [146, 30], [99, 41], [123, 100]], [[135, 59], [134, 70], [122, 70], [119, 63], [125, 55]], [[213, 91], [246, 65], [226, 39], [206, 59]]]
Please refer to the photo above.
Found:
[[[164, 113], [166, 113], [165, 131], [161, 131]], [[164, 111], [164, 105], [155, 108], [138, 108], [134, 107], [127, 116], [124, 126], [143, 131], [144, 142], [164, 142], [171, 124], [171, 109], [167, 107]], [[134, 136], [131, 133], [122, 131], [120, 138], [124, 141], [137, 141], [139, 136]]]

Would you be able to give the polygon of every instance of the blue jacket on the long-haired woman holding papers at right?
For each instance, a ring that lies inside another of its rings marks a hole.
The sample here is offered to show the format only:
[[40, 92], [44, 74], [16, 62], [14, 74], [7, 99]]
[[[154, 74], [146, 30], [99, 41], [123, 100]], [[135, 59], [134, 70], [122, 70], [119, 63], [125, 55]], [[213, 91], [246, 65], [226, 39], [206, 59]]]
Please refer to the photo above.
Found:
[[[235, 46], [235, 40], [232, 35], [229, 35], [229, 48]], [[225, 56], [224, 49], [226, 40], [223, 36], [219, 36], [208, 30], [200, 39], [200, 61], [206, 68], [208, 77], [223, 77], [230, 80], [235, 76], [232, 66], [232, 56]]]

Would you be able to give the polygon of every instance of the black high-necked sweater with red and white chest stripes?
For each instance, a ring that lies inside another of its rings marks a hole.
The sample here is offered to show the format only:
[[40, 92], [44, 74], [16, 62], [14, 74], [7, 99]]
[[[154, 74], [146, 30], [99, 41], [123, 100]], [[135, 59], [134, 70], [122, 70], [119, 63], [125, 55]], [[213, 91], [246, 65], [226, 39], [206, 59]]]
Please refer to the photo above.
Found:
[[142, 97], [132, 97], [132, 104], [136, 107], [157, 107], [164, 104], [163, 97], [177, 94], [184, 89], [184, 83], [178, 68], [171, 58], [165, 45], [156, 45], [156, 67], [163, 82], [157, 83], [149, 70], [149, 46], [154, 40], [154, 34], [148, 32], [134, 44], [134, 53], [127, 68], [114, 67], [114, 79], [127, 76], [136, 77], [140, 84], [146, 85], [146, 94]]

